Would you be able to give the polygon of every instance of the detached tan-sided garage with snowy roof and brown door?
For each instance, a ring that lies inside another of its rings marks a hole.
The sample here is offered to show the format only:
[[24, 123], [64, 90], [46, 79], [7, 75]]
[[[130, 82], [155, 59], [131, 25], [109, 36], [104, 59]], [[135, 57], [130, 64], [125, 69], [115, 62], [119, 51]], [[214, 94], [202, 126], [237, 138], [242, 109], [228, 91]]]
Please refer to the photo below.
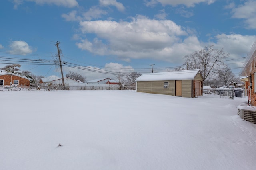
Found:
[[136, 81], [136, 91], [194, 98], [202, 95], [200, 70], [182, 70], [142, 74]]

